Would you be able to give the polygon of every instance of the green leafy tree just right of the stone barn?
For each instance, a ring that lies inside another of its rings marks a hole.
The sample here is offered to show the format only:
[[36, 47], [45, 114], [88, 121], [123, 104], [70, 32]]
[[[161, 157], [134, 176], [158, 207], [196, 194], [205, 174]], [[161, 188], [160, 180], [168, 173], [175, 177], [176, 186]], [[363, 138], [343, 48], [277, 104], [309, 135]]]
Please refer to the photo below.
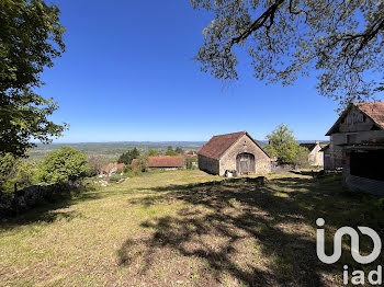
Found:
[[301, 152], [301, 147], [293, 136], [293, 130], [289, 129], [284, 124], [279, 125], [272, 134], [267, 138], [270, 145], [266, 147], [266, 151], [271, 156], [278, 158], [281, 164], [294, 163], [296, 156]]

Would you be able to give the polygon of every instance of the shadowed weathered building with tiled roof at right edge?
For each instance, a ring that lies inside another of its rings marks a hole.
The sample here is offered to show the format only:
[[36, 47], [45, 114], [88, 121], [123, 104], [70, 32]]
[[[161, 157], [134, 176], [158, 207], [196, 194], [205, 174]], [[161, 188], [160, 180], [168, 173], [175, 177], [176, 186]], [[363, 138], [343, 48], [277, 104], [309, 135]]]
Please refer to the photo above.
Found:
[[350, 104], [326, 136], [327, 170], [342, 168], [350, 190], [384, 195], [384, 102]]

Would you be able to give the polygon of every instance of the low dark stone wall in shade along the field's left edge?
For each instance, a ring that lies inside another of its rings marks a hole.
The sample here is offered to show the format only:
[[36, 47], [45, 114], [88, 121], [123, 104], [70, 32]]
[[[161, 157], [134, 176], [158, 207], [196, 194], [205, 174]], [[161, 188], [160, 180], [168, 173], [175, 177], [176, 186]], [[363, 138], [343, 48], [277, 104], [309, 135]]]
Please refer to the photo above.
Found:
[[52, 200], [57, 196], [68, 195], [70, 191], [78, 188], [80, 185], [80, 182], [33, 185], [18, 191], [16, 195], [14, 193], [0, 193], [0, 218], [16, 216], [32, 209], [42, 202]]

